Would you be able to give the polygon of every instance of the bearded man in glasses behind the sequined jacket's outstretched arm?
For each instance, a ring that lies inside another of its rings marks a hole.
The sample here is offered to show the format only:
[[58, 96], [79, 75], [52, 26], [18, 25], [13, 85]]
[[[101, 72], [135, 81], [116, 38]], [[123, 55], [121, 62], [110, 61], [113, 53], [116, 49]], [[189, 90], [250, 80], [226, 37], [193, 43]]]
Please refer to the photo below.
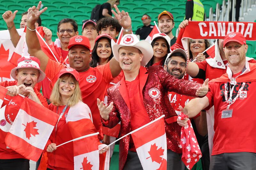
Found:
[[[182, 49], [175, 49], [172, 53], [168, 54], [164, 70], [170, 73], [172, 76], [176, 78], [183, 78], [187, 66], [187, 54]], [[184, 107], [189, 100], [193, 99], [193, 97], [180, 95], [176, 92], [168, 92], [168, 98], [170, 103], [177, 114], [180, 114], [179, 106]], [[209, 147], [208, 147], [208, 137], [205, 136], [207, 134], [207, 123], [206, 123], [206, 114], [198, 114], [193, 120], [191, 120], [192, 126], [195, 130], [196, 138], [198, 144], [202, 150], [202, 164], [203, 169], [209, 169]], [[179, 121], [178, 121], [179, 124]], [[181, 155], [180, 155], [181, 156]]]

